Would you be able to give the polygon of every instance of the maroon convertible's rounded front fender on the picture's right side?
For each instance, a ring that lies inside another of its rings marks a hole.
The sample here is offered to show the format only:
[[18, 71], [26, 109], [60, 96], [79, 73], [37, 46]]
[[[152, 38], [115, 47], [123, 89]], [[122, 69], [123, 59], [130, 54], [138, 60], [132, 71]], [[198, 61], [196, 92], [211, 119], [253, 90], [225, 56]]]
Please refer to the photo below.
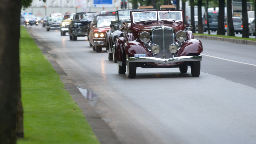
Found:
[[200, 54], [201, 52], [203, 52], [202, 42], [197, 39], [191, 39], [181, 45], [181, 50], [179, 51], [178, 56], [186, 56], [188, 54]]

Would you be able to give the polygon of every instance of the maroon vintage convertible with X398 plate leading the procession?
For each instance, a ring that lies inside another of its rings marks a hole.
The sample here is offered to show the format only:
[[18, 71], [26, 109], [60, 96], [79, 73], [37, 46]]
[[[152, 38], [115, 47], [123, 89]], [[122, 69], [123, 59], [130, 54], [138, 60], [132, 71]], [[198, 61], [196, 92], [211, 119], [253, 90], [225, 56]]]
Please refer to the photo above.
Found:
[[[172, 6], [161, 6], [172, 7]], [[190, 65], [193, 77], [199, 77], [203, 46], [183, 23], [183, 10], [131, 11], [131, 23], [125, 23], [116, 39], [118, 73], [136, 77], [136, 68], [179, 67], [186, 73]]]

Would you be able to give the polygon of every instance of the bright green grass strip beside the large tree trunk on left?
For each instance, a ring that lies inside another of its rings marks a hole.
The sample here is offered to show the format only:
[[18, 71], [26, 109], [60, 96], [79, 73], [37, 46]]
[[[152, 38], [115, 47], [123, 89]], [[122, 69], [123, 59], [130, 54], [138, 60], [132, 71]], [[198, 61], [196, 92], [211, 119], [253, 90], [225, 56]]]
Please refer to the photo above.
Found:
[[24, 26], [20, 69], [25, 138], [18, 144], [99, 144], [82, 111]]

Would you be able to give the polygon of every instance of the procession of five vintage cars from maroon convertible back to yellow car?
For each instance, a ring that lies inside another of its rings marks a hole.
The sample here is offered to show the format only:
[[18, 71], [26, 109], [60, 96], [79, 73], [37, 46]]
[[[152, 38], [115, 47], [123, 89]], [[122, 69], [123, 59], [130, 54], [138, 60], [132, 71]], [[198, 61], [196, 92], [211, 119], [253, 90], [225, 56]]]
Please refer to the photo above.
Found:
[[70, 23], [62, 21], [60, 32], [61, 35], [68, 32], [72, 41], [87, 36], [96, 52], [105, 47], [108, 60], [117, 63], [118, 74], [127, 71], [128, 78], [136, 78], [137, 67], [175, 67], [187, 73], [188, 66], [191, 75], [199, 77], [202, 42], [194, 39], [190, 30], [193, 27], [185, 25], [183, 10], [175, 10], [174, 6], [161, 6], [161, 9], [141, 6], [104, 15], [70, 14]]

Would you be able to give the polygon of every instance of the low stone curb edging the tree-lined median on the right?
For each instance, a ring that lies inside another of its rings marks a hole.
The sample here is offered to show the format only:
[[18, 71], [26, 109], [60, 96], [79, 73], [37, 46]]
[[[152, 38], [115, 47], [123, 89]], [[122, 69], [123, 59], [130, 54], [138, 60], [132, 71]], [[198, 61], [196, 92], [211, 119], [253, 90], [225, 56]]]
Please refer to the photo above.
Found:
[[231, 43], [234, 43], [234, 44], [256, 45], [256, 41], [239, 40], [239, 39], [233, 39], [233, 38], [223, 38], [223, 37], [214, 37], [214, 36], [206, 36], [206, 35], [194, 35], [194, 38], [225, 41], [225, 42], [231, 42]]

